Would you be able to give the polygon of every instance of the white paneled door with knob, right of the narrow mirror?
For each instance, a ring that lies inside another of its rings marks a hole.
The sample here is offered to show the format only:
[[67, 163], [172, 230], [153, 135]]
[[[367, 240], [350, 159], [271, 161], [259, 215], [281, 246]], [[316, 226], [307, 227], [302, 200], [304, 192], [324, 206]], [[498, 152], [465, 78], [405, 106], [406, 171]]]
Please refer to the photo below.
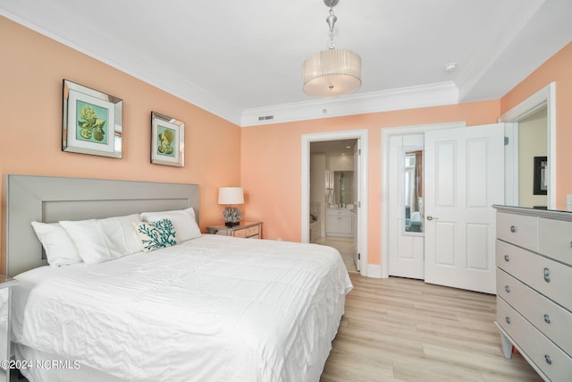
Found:
[[425, 282], [495, 293], [502, 123], [425, 132]]

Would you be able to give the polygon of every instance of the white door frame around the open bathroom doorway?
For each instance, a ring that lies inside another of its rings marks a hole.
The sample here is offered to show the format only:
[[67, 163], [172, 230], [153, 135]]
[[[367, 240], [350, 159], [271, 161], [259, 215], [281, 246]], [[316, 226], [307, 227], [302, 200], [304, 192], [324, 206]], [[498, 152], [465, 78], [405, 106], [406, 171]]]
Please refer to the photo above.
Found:
[[374, 272], [369, 272], [370, 266], [367, 262], [367, 130], [350, 130], [344, 132], [317, 132], [311, 134], [302, 134], [302, 186], [301, 186], [301, 221], [300, 221], [300, 237], [301, 242], [309, 242], [310, 231], [310, 143], [324, 140], [359, 140], [361, 155], [359, 160], [359, 195], [357, 195], [357, 248], [360, 254], [359, 273], [362, 276], [368, 276]]

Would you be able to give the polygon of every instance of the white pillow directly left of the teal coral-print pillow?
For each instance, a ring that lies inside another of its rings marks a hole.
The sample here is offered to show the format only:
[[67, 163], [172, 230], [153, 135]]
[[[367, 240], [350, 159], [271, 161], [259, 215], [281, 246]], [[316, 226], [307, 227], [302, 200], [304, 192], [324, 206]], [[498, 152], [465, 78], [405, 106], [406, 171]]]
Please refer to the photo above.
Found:
[[105, 219], [61, 221], [86, 264], [118, 259], [141, 250], [133, 228], [139, 214], [114, 216]]

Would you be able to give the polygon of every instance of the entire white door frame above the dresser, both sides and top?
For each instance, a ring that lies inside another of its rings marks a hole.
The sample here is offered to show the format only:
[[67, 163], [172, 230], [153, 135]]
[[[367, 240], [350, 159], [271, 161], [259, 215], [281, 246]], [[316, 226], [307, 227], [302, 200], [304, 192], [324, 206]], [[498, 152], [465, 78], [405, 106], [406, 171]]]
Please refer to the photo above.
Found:
[[[551, 82], [543, 89], [538, 90], [529, 98], [511, 108], [508, 112], [499, 117], [500, 123], [509, 123], [509, 128], [505, 132], [509, 136], [509, 145], [505, 146], [505, 151], [509, 150], [505, 157], [505, 176], [507, 178], [505, 200], [507, 204], [517, 204], [518, 202], [518, 177], [511, 177], [515, 174], [518, 164], [518, 140], [514, 130], [517, 123], [529, 115], [533, 115], [538, 110], [546, 106], [547, 123], [547, 157], [549, 176], [549, 189], [547, 192], [546, 204], [548, 209], [556, 209], [556, 82]], [[517, 171], [516, 171], [517, 173]], [[516, 202], [516, 203], [515, 203]]]

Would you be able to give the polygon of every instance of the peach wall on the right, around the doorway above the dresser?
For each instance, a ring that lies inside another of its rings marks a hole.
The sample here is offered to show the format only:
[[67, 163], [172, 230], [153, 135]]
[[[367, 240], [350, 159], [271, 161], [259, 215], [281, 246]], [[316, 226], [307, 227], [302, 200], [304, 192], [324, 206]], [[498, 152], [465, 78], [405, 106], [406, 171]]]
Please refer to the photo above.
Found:
[[501, 98], [501, 115], [551, 82], [556, 82], [556, 208], [566, 210], [566, 194], [572, 194], [572, 43]]

